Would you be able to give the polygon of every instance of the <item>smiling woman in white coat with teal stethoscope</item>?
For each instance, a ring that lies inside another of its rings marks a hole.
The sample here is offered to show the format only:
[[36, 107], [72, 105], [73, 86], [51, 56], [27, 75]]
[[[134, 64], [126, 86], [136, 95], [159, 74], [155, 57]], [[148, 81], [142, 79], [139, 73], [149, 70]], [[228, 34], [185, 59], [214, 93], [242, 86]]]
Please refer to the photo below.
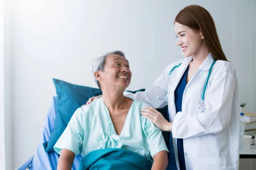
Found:
[[170, 122], [152, 107], [141, 114], [172, 132], [178, 170], [238, 170], [238, 82], [214, 21], [206, 9], [192, 5], [177, 14], [174, 27], [185, 58], [172, 62], [144, 92], [125, 96], [154, 108], [168, 105]]

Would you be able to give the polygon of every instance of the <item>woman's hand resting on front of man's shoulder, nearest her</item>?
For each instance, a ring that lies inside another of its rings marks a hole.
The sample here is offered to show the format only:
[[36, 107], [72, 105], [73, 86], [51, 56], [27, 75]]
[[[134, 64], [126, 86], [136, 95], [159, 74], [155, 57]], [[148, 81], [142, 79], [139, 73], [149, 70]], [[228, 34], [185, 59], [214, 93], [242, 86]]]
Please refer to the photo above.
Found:
[[155, 108], [145, 106], [145, 109], [140, 110], [140, 114], [146, 119], [151, 120], [162, 131], [172, 131], [172, 122], [168, 122]]

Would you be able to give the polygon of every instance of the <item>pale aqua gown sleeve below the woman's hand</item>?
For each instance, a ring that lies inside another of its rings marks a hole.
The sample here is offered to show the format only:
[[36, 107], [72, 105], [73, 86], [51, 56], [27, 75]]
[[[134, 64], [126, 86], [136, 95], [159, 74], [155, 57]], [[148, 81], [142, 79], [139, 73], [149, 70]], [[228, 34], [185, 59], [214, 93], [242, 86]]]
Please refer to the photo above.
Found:
[[145, 120], [145, 131], [147, 133], [148, 150], [152, 158], [160, 151], [166, 150], [169, 152], [162, 131], [148, 119]]

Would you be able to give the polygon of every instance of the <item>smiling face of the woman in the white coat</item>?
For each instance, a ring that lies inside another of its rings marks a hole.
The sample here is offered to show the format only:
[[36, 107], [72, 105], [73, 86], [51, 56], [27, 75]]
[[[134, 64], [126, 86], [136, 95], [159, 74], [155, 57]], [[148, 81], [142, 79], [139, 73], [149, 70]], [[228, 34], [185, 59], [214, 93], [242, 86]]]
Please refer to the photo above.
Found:
[[177, 22], [175, 22], [174, 28], [177, 36], [176, 44], [181, 47], [181, 51], [185, 57], [193, 56], [197, 54], [201, 48], [204, 48], [201, 31], [194, 31], [188, 26]]

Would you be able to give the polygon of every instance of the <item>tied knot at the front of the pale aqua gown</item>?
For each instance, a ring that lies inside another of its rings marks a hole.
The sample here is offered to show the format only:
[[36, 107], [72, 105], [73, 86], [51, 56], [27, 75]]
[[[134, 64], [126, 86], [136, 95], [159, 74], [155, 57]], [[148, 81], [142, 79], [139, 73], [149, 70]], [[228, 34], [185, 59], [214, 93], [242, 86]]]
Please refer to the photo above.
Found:
[[[115, 134], [111, 133], [111, 128], [112, 128], [111, 124], [112, 124], [112, 122], [109, 121], [108, 122], [108, 135], [106, 136], [106, 138], [104, 140], [98, 135], [99, 141], [101, 142], [101, 145], [102, 145], [102, 149], [121, 148], [122, 147], [122, 143], [118, 140], [117, 136]], [[115, 142], [119, 143], [116, 147], [115, 147]]]

